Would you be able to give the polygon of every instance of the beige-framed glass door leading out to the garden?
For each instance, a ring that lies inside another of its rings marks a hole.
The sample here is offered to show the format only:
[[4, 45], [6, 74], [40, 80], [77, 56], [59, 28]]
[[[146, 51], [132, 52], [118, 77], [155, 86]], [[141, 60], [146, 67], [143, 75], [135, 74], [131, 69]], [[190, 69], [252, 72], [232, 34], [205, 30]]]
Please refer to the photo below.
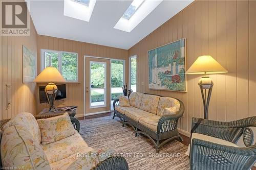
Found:
[[85, 58], [86, 113], [110, 111], [110, 60]]

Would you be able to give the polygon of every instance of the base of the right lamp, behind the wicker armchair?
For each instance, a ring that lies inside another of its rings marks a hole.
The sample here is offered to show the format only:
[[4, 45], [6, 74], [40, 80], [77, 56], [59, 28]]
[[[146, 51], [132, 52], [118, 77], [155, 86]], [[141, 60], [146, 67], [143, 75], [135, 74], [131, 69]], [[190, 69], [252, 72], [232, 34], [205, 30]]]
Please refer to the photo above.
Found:
[[[199, 80], [198, 85], [200, 86], [201, 94], [202, 94], [202, 98], [203, 98], [204, 118], [208, 119], [208, 108], [209, 108], [209, 103], [210, 103], [210, 95], [211, 95], [212, 87], [214, 86], [214, 82], [212, 82], [210, 77], [204, 76]], [[207, 94], [207, 91], [208, 91], [208, 94]]]

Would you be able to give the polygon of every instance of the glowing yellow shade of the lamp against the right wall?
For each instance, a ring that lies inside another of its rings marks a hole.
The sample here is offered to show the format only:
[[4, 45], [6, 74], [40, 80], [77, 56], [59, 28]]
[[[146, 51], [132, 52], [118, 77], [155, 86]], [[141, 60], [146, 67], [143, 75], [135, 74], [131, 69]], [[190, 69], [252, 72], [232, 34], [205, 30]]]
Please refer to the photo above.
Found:
[[211, 56], [200, 56], [186, 71], [187, 75], [220, 74], [228, 72]]

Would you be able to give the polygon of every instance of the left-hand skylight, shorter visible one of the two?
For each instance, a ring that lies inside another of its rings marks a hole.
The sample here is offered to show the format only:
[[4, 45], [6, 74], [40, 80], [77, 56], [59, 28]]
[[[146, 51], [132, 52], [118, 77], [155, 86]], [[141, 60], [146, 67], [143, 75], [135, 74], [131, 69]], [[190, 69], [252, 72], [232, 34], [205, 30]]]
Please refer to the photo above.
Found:
[[89, 22], [96, 0], [65, 0], [64, 15]]

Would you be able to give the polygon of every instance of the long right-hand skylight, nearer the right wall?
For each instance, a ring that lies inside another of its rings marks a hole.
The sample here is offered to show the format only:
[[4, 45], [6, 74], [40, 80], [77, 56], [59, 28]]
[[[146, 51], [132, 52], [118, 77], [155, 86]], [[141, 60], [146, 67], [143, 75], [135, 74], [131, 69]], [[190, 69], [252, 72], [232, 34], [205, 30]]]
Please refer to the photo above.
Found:
[[115, 29], [131, 32], [163, 0], [134, 0], [115, 25]]

